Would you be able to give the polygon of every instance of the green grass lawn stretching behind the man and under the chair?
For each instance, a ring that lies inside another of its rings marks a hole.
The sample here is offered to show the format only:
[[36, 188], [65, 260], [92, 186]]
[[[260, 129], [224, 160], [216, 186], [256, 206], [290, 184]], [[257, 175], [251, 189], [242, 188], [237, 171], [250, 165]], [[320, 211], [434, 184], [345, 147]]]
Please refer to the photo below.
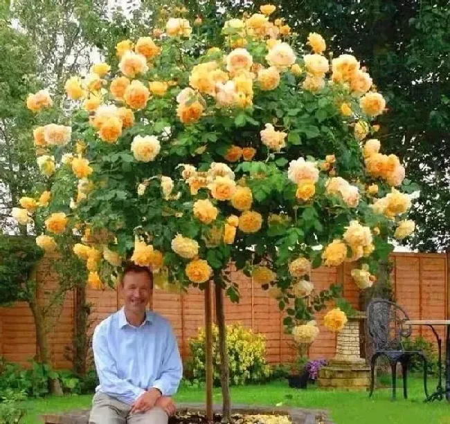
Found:
[[[397, 381], [401, 387], [402, 380]], [[434, 388], [434, 380], [429, 381]], [[336, 424], [450, 424], [450, 405], [445, 402], [423, 403], [420, 379], [410, 378], [408, 382], [410, 398], [399, 397], [390, 400], [390, 389], [377, 389], [369, 399], [366, 391], [323, 391], [309, 386], [307, 390], [289, 389], [286, 382], [271, 382], [268, 385], [232, 387], [231, 394], [235, 403], [253, 405], [283, 405], [328, 409]], [[397, 395], [402, 391], [398, 389]], [[220, 390], [215, 389], [214, 400], [219, 403]], [[194, 387], [181, 387], [177, 394], [179, 402], [204, 400], [204, 390]], [[91, 396], [48, 397], [39, 400], [27, 400], [24, 408], [28, 414], [24, 424], [39, 423], [37, 417], [45, 412], [59, 412], [67, 409], [89, 407]]]

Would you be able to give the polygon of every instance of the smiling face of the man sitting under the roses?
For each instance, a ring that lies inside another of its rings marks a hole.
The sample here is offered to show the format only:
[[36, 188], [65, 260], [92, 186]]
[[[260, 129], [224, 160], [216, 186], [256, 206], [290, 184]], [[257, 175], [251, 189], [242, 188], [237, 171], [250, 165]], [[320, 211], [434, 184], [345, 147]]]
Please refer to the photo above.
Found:
[[152, 293], [152, 280], [147, 273], [126, 273], [123, 277], [125, 308], [134, 313], [143, 313]]

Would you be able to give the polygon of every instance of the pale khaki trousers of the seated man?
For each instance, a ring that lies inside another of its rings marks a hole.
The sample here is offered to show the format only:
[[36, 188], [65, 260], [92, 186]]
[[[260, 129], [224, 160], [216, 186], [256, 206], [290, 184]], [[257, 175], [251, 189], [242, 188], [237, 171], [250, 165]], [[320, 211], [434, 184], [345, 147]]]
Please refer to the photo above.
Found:
[[92, 399], [89, 424], [168, 424], [168, 414], [161, 407], [131, 415], [130, 409], [127, 403], [98, 391]]

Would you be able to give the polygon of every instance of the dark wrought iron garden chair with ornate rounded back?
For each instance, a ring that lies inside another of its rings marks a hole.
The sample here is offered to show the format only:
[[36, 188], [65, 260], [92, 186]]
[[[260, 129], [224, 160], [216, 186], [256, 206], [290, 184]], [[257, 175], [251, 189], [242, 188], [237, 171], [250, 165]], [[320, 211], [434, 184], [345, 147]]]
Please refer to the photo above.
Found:
[[426, 356], [421, 351], [406, 351], [402, 346], [402, 339], [411, 335], [411, 325], [405, 324], [409, 320], [404, 309], [385, 299], [372, 299], [367, 308], [367, 334], [372, 345], [373, 353], [370, 359], [370, 394], [372, 396], [375, 387], [375, 365], [380, 356], [388, 358], [392, 371], [393, 399], [397, 382], [397, 363], [402, 365], [403, 374], [403, 396], [408, 398], [406, 389], [406, 378], [408, 365], [413, 356], [420, 356], [424, 362], [424, 391], [428, 398], [426, 389], [426, 374], [428, 363]]

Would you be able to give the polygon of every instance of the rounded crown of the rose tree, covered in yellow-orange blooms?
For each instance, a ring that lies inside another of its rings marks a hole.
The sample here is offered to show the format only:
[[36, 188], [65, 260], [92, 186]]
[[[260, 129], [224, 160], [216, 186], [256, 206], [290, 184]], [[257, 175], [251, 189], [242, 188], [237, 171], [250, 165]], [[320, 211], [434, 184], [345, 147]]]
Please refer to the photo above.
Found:
[[[97, 288], [130, 259], [160, 283], [213, 280], [237, 300], [233, 263], [289, 304], [288, 326], [338, 295], [314, 291], [312, 268], [355, 262], [356, 284], [372, 284], [388, 238], [414, 226], [404, 167], [380, 153], [371, 123], [386, 102], [355, 57], [324, 55], [321, 35], [294, 49], [267, 6], [226, 21], [220, 46], [170, 18], [153, 37], [120, 42], [117, 69], [94, 64], [66, 82], [70, 115], [34, 136], [49, 187], [64, 181], [72, 199], [52, 190], [14, 211], [20, 223], [45, 219], [39, 246], [83, 234], [75, 253]], [[51, 107], [46, 92], [27, 103]], [[301, 333], [311, 342], [317, 331]]]

